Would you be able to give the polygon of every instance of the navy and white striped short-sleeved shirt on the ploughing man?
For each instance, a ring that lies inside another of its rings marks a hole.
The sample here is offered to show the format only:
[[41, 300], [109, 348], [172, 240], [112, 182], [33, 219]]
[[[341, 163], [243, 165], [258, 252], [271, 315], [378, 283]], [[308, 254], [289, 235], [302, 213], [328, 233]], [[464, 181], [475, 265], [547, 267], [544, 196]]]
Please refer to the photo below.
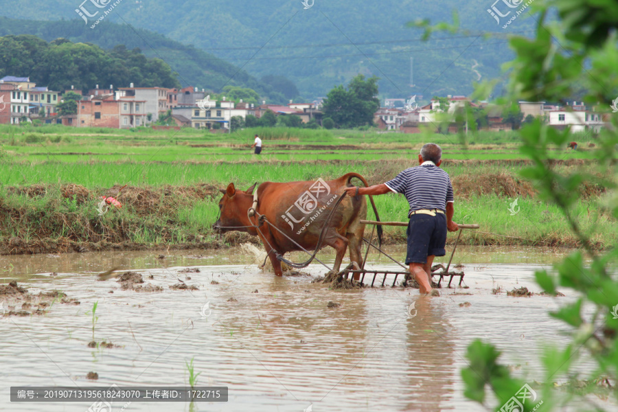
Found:
[[446, 211], [446, 203], [455, 201], [448, 173], [438, 168], [433, 161], [425, 161], [420, 166], [406, 169], [385, 185], [393, 192], [406, 196], [410, 211]]

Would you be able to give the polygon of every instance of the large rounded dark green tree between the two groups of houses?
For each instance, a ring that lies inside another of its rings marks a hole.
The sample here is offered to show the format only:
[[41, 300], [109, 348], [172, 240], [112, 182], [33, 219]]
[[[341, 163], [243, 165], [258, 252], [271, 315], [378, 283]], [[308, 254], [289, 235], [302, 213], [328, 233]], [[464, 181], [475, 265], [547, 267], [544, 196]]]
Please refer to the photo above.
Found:
[[328, 92], [322, 110], [340, 128], [371, 126], [374, 124], [374, 113], [380, 108], [378, 95], [378, 78], [359, 74], [354, 77], [347, 90], [343, 85], [334, 87]]

